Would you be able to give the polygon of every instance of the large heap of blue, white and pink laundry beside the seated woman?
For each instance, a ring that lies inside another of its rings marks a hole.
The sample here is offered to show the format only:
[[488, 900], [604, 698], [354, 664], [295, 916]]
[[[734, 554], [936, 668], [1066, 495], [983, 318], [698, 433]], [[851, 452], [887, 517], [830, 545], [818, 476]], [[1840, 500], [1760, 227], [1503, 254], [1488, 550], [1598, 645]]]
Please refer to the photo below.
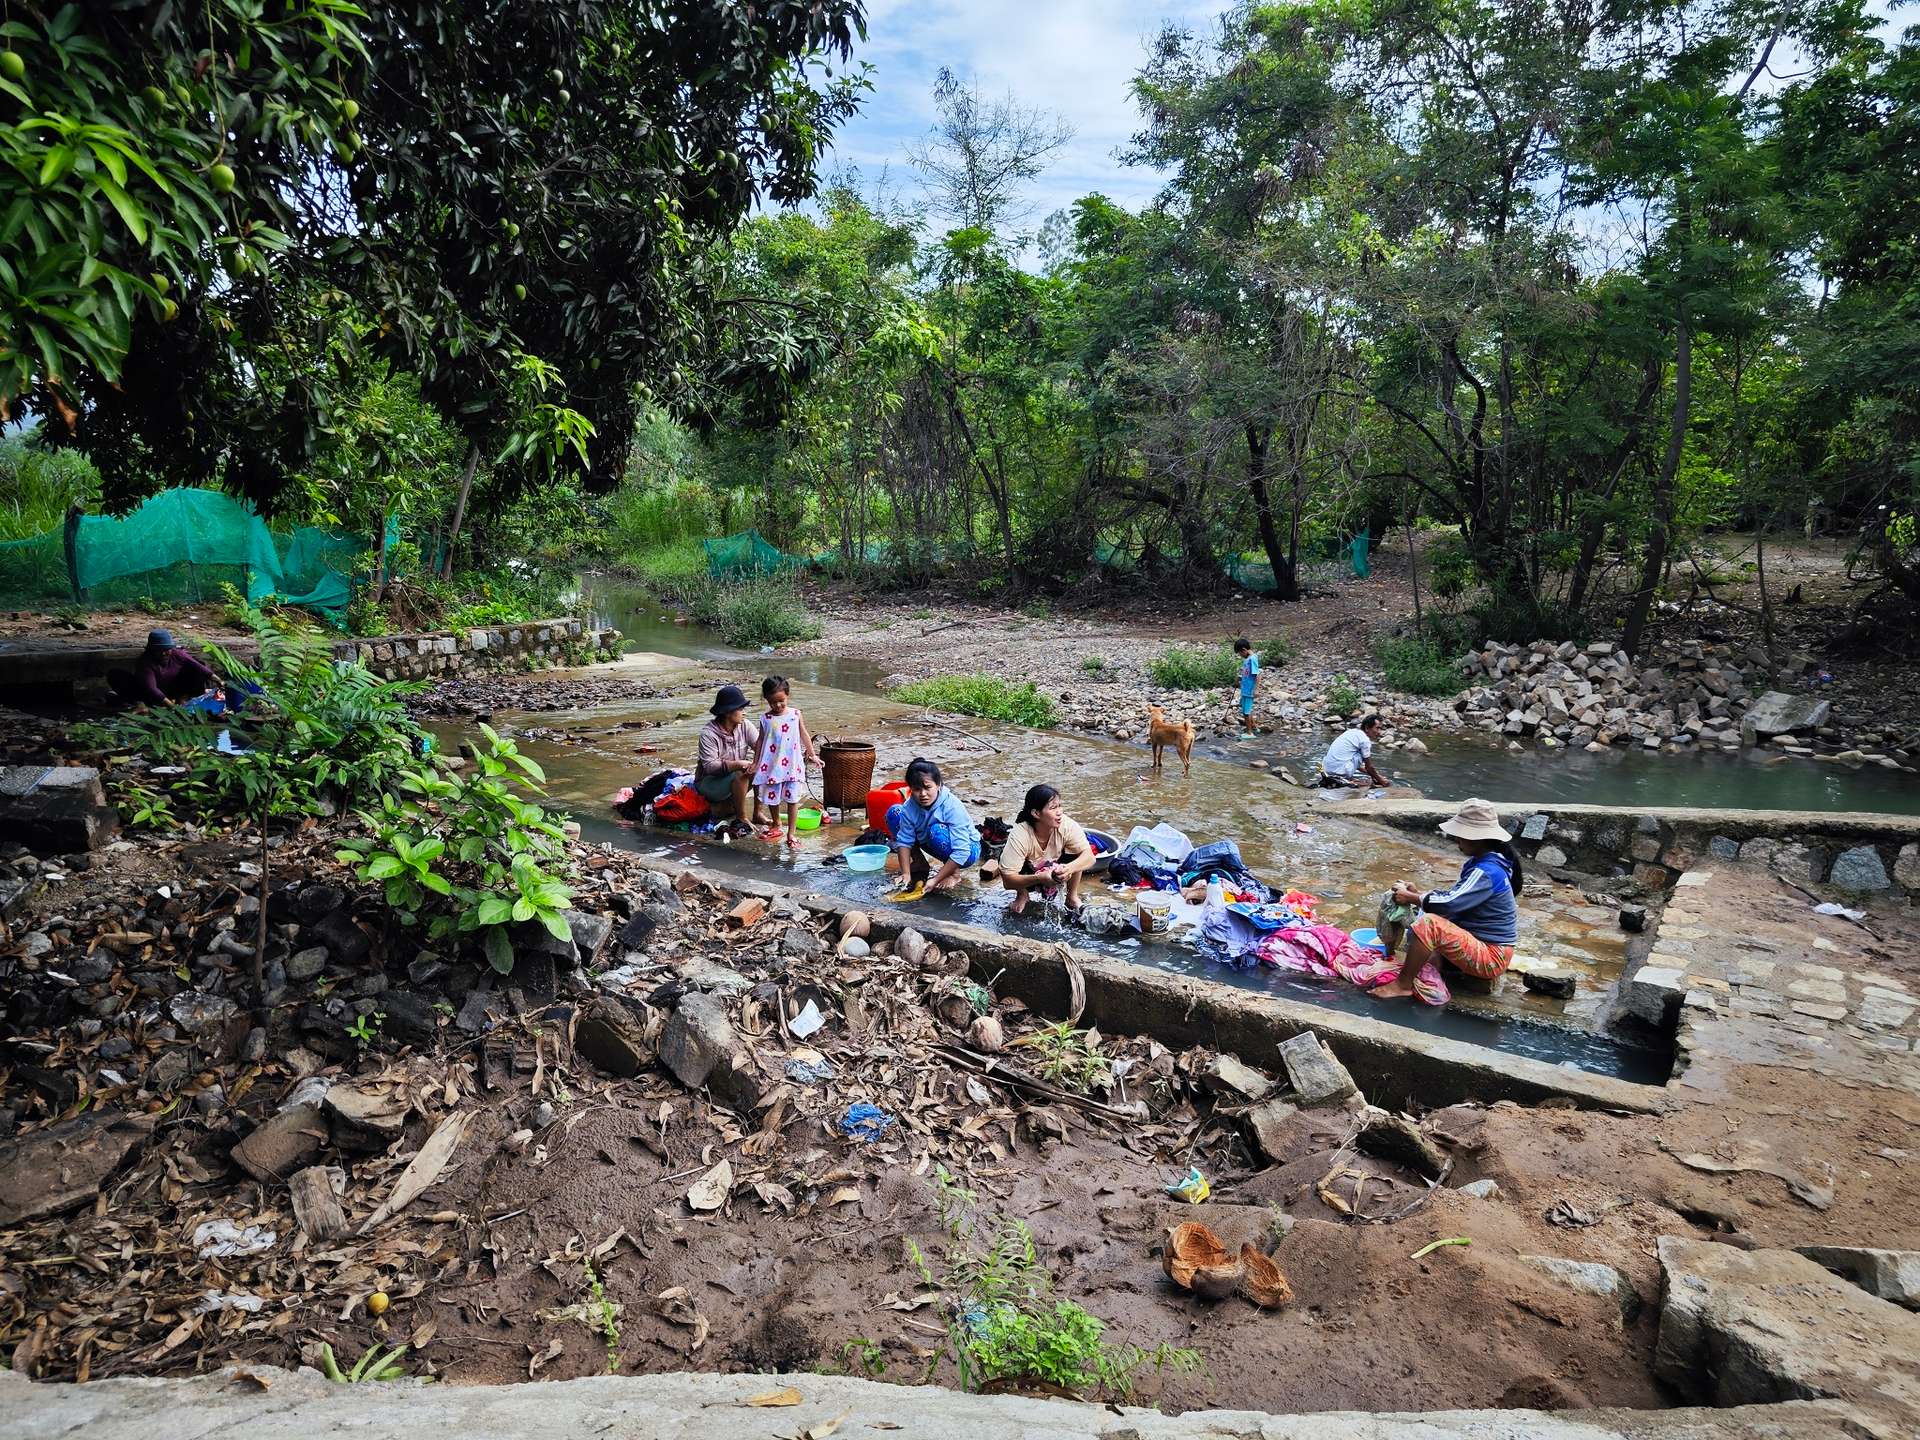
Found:
[[[1114, 889], [1173, 891], [1171, 933], [1223, 966], [1273, 966], [1317, 979], [1344, 979], [1361, 989], [1400, 977], [1400, 958], [1386, 954], [1379, 931], [1348, 933], [1317, 918], [1319, 897], [1275, 893], [1240, 858], [1233, 841], [1194, 845], [1167, 824], [1135, 826], [1108, 866]], [[1206, 899], [1190, 899], [1198, 885]], [[1386, 916], [1382, 914], [1382, 924]], [[1452, 995], [1440, 968], [1421, 966], [1413, 993], [1427, 1004]]]

